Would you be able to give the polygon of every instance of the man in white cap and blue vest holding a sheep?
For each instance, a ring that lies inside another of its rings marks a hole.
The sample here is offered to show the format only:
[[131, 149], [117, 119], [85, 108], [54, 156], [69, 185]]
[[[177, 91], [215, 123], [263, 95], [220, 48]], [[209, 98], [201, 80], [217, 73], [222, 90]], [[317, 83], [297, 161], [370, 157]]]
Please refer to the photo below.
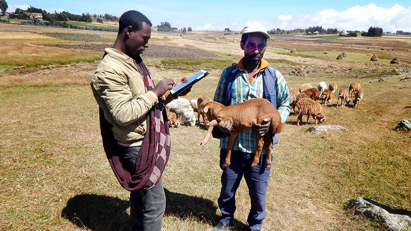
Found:
[[[265, 98], [277, 108], [282, 122], [285, 122], [290, 113], [290, 96], [283, 75], [263, 59], [267, 38], [270, 38], [270, 35], [260, 23], [253, 22], [244, 27], [240, 42], [240, 47], [244, 50], [244, 57], [237, 65], [223, 70], [214, 101], [228, 106], [253, 98]], [[247, 219], [249, 229], [261, 229], [263, 219], [266, 217], [266, 193], [271, 166], [264, 168], [264, 148], [257, 166], [251, 168], [251, 162], [255, 153], [256, 133], [264, 136], [268, 132], [269, 126], [270, 119], [267, 118], [263, 123], [255, 125], [253, 129], [239, 133], [233, 147], [231, 164], [222, 168], [221, 192], [218, 198], [218, 206], [222, 216], [213, 231], [228, 230], [232, 227], [235, 192], [243, 176], [251, 199], [251, 209]], [[220, 166], [227, 155], [227, 132], [232, 129], [230, 122], [226, 122], [213, 130], [213, 136], [220, 138]], [[278, 134], [275, 134], [273, 146], [277, 143]]]

